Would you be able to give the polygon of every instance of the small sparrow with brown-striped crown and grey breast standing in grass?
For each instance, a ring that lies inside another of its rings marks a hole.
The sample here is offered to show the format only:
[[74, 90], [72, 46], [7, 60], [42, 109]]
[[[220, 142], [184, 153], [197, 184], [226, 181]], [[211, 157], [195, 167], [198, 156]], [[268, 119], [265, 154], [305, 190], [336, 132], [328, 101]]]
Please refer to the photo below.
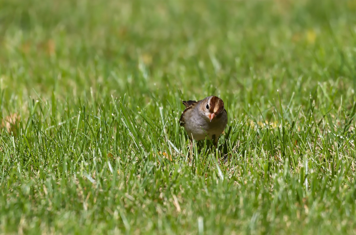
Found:
[[204, 140], [206, 137], [213, 140], [214, 146], [227, 125], [227, 112], [224, 102], [219, 97], [211, 95], [205, 99], [183, 101], [187, 107], [179, 119], [188, 133], [190, 149], [193, 148], [193, 139]]

